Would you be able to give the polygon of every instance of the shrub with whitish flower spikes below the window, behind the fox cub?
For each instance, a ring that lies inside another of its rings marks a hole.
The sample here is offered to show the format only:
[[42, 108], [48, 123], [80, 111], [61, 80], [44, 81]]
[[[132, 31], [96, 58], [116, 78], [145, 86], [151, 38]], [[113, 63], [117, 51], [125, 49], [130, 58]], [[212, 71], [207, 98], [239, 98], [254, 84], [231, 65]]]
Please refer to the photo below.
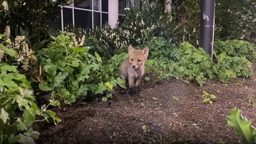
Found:
[[[163, 36], [169, 42], [177, 42], [179, 22], [175, 22], [169, 13], [164, 13], [161, 5], [153, 6], [142, 1], [142, 7], [126, 9], [125, 16], [119, 20], [115, 29], [108, 25], [90, 30], [68, 26], [67, 31], [81, 37], [85, 35], [85, 46], [93, 46], [91, 52], [97, 52], [102, 59], [109, 59], [114, 54], [126, 51], [127, 45], [145, 44], [151, 39]], [[121, 49], [123, 47], [123, 49]]]

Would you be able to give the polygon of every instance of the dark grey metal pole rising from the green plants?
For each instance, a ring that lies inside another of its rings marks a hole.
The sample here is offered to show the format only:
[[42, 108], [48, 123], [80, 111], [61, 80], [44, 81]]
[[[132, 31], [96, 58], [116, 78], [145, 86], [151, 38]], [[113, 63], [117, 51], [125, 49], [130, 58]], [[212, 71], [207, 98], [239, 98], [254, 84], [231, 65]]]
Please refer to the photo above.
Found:
[[201, 1], [200, 46], [213, 58], [215, 0]]

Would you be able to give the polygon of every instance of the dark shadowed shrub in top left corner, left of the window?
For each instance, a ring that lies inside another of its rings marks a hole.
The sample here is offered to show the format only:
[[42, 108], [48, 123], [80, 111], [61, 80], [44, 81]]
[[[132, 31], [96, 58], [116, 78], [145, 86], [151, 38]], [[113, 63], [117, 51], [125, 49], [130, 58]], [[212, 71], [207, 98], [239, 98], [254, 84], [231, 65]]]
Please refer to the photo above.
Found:
[[67, 2], [69, 1], [0, 1], [0, 33], [3, 33], [6, 26], [10, 26], [13, 36], [25, 35], [31, 43], [41, 42], [49, 38], [49, 33], [56, 32], [56, 20], [60, 10], [58, 5]]

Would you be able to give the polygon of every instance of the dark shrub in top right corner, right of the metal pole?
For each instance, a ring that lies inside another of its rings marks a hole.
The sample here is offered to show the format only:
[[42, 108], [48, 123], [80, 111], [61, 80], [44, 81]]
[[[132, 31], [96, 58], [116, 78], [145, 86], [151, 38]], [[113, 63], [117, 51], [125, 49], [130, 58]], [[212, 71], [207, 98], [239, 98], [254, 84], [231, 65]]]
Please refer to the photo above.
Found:
[[216, 1], [215, 37], [221, 39], [244, 39], [256, 42], [256, 3], [249, 1]]

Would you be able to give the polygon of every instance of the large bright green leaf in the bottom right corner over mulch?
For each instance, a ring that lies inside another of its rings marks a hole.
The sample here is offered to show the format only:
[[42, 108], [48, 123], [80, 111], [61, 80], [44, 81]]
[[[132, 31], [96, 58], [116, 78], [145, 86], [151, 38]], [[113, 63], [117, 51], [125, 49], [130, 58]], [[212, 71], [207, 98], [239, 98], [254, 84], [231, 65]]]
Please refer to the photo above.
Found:
[[252, 122], [247, 121], [239, 109], [231, 109], [228, 116], [228, 126], [235, 127], [236, 133], [243, 137], [242, 143], [255, 143], [256, 129]]

